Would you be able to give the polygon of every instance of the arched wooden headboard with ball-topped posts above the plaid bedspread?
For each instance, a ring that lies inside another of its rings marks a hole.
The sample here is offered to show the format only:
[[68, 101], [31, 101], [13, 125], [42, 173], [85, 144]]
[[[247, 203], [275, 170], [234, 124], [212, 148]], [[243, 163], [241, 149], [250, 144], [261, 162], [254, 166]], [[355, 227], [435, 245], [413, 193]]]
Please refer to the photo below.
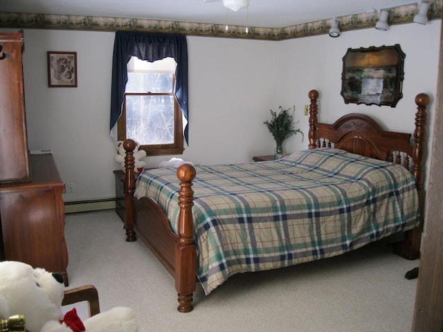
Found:
[[417, 113], [413, 142], [410, 133], [385, 131], [378, 122], [364, 114], [349, 113], [333, 124], [318, 122], [318, 91], [309, 91], [309, 99], [309, 149], [336, 147], [353, 154], [401, 164], [413, 173], [417, 188], [422, 188], [426, 107], [429, 103], [426, 93], [419, 93], [415, 97]]

